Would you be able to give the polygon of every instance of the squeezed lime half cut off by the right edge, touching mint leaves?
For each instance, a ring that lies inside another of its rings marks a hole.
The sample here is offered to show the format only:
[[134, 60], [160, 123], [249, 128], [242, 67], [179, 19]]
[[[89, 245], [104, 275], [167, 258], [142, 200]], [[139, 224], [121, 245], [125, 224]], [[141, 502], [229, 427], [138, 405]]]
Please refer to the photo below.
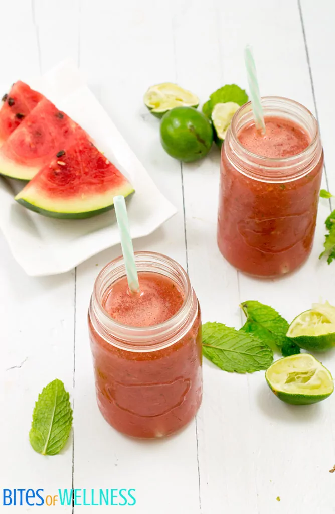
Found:
[[314, 303], [289, 326], [287, 337], [310, 352], [325, 352], [335, 346], [335, 307]]

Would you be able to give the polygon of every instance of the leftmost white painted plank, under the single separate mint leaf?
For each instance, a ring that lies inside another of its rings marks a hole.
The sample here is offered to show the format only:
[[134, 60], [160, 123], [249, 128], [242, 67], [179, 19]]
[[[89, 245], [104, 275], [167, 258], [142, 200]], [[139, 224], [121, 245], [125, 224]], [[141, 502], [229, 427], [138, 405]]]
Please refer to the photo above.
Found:
[[[29, 80], [40, 74], [31, 7], [30, 2], [11, 2], [15, 37], [11, 22], [3, 23], [0, 32], [0, 46], [6, 49], [0, 79], [5, 89], [17, 79]], [[2, 12], [10, 16], [8, 6]], [[73, 273], [42, 279], [27, 277], [2, 236], [0, 245], [0, 397], [2, 412], [6, 413], [1, 429], [0, 482], [7, 488], [44, 489], [45, 497], [57, 494], [59, 488], [71, 488], [72, 483], [72, 437], [59, 455], [45, 457], [32, 450], [28, 433], [34, 403], [48, 382], [54, 378], [63, 380], [72, 396]], [[18, 506], [13, 510], [28, 508]], [[46, 507], [40, 510], [45, 512]], [[71, 507], [55, 507], [54, 511], [69, 513]]]

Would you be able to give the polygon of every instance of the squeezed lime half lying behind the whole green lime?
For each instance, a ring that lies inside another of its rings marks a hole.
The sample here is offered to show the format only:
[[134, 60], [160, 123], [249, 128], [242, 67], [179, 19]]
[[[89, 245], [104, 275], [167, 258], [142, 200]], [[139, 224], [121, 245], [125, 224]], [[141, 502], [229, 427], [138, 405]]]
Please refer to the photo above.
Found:
[[154, 116], [161, 118], [174, 107], [197, 107], [199, 99], [191, 91], [177, 84], [163, 82], [151, 86], [146, 91], [144, 103]]

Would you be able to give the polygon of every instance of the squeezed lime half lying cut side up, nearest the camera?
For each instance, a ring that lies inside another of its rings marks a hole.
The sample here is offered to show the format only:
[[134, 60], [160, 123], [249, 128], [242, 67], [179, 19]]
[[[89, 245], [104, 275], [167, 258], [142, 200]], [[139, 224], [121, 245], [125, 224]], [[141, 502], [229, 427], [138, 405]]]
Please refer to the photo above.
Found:
[[309, 354], [290, 355], [275, 361], [265, 378], [278, 398], [293, 405], [322, 401], [334, 390], [330, 372]]

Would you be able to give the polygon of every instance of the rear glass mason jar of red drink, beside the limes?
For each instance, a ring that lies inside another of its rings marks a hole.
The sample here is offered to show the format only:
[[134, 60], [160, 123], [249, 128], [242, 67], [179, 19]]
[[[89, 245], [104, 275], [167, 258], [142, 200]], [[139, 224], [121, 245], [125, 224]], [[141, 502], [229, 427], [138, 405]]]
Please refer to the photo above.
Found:
[[265, 117], [284, 118], [310, 143], [291, 157], [269, 158], [243, 146], [238, 134], [253, 120], [250, 102], [235, 113], [221, 150], [217, 242], [236, 268], [279, 277], [303, 264], [312, 248], [323, 170], [317, 120], [303, 105], [262, 98]]

